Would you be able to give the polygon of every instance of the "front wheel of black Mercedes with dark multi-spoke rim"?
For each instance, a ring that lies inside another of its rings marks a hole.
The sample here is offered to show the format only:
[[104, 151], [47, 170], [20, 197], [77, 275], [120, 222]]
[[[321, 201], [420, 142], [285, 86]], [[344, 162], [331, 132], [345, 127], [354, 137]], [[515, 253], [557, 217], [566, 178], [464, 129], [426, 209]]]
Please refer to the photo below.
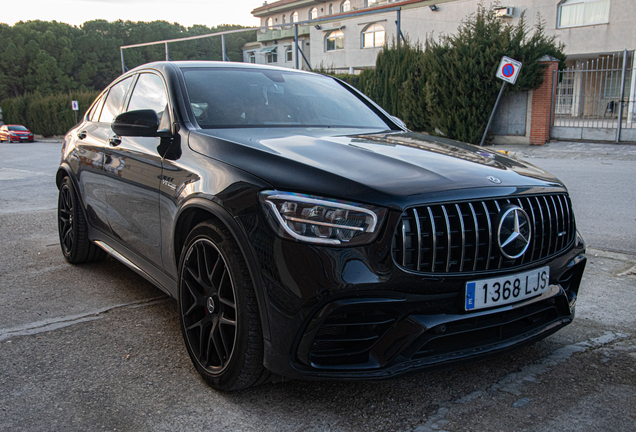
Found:
[[224, 226], [202, 222], [188, 235], [179, 263], [178, 302], [188, 354], [211, 387], [241, 390], [269, 378], [254, 286]]

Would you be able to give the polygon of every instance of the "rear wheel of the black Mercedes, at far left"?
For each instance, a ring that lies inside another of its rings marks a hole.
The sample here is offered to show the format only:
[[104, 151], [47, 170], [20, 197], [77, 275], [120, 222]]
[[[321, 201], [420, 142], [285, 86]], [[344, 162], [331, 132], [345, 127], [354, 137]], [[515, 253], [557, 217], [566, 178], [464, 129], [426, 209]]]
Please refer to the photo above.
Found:
[[88, 225], [84, 212], [73, 183], [68, 177], [64, 177], [60, 184], [57, 226], [62, 254], [69, 263], [81, 264], [106, 257], [106, 252], [88, 239]]

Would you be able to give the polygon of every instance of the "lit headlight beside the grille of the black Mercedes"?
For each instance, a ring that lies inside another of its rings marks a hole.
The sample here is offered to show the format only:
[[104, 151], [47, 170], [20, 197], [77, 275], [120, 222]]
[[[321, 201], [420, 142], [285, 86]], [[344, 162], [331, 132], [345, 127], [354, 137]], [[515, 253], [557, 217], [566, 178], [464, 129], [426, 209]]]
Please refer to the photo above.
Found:
[[361, 245], [378, 235], [387, 210], [289, 192], [263, 191], [267, 219], [280, 236], [324, 245]]

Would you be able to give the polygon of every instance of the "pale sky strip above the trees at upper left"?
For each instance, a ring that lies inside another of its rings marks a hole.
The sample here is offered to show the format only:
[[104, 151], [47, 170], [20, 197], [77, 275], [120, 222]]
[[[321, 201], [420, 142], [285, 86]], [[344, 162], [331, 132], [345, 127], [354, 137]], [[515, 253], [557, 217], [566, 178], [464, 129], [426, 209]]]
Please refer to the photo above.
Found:
[[86, 21], [176, 22], [185, 27], [204, 24], [258, 26], [250, 13], [262, 0], [12, 0], [3, 1], [0, 22], [59, 21], [81, 25]]

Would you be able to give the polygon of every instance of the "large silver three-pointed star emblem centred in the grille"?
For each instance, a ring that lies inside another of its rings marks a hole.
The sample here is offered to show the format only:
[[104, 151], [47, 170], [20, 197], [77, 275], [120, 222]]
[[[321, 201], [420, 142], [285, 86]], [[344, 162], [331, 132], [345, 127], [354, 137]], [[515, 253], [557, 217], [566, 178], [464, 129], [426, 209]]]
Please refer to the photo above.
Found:
[[513, 205], [502, 209], [497, 240], [503, 256], [519, 258], [528, 250], [531, 235], [530, 218], [522, 208]]

